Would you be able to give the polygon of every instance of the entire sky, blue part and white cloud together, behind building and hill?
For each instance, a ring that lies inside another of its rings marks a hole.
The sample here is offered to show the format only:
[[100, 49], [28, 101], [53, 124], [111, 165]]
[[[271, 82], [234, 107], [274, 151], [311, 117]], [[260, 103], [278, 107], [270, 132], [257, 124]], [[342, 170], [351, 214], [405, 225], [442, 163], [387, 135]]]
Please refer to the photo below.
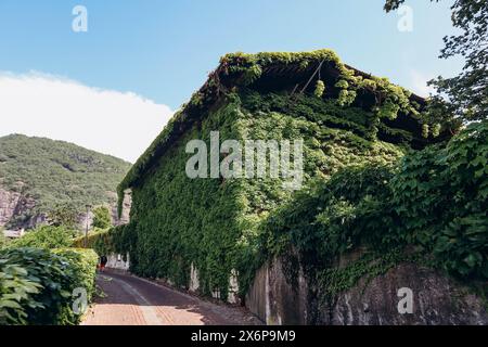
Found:
[[[12, 101], [0, 102], [0, 117], [17, 119], [2, 121], [0, 136], [46, 136], [134, 160], [219, 57], [236, 51], [329, 48], [349, 65], [425, 93], [427, 79], [462, 66], [437, 59], [442, 37], [453, 33], [451, 2], [408, 0], [413, 31], [401, 33], [400, 16], [386, 14], [383, 0], [0, 0], [0, 99], [3, 90]], [[88, 33], [72, 30], [78, 4], [88, 10]], [[44, 89], [52, 92], [40, 98]], [[125, 125], [116, 132], [139, 133], [133, 153], [118, 149], [120, 139], [90, 142], [98, 134], [81, 131], [84, 115], [84, 124], [105, 120]], [[60, 118], [69, 119], [65, 128]], [[133, 118], [144, 127], [133, 129]]]

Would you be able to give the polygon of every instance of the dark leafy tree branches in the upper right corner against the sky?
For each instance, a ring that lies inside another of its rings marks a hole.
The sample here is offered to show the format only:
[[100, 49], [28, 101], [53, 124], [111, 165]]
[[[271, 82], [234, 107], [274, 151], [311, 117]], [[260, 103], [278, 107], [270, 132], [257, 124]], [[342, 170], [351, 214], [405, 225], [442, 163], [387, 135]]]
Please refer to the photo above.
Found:
[[[440, 0], [431, 0], [440, 1]], [[396, 10], [404, 0], [386, 0], [385, 11]], [[428, 82], [437, 92], [433, 97], [434, 114], [452, 114], [463, 121], [488, 119], [488, 1], [455, 0], [451, 7], [452, 24], [460, 35], [446, 36], [440, 59], [461, 55], [463, 70], [451, 78], [437, 77]]]

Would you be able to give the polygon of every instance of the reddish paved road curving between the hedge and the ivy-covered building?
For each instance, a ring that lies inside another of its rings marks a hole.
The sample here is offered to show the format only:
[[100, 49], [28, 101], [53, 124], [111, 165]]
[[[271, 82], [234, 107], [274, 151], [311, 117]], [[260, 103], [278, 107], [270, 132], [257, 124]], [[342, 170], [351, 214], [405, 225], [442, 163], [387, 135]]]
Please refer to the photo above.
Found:
[[104, 272], [97, 283], [105, 294], [82, 325], [260, 324], [243, 308], [204, 301], [132, 275]]

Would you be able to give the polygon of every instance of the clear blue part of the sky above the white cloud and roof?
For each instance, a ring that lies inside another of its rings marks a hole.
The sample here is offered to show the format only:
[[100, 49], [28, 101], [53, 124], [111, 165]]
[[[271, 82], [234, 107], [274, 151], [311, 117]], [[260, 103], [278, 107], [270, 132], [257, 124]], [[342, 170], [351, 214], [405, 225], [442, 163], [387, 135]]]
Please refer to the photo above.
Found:
[[[132, 91], [177, 108], [227, 52], [335, 50], [346, 63], [406, 87], [412, 70], [451, 75], [437, 59], [450, 1], [407, 2], [413, 31], [382, 0], [0, 1], [0, 70], [38, 70]], [[88, 9], [88, 33], [70, 29]]]

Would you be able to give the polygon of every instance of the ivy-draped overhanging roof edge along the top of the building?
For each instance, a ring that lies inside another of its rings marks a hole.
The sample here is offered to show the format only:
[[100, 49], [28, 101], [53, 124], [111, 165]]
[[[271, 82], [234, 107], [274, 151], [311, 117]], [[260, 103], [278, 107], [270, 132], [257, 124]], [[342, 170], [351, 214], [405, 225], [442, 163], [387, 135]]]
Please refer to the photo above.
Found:
[[[336, 99], [344, 107], [352, 105], [370, 110], [378, 119], [394, 125], [394, 128], [416, 133], [416, 146], [422, 146], [423, 142], [427, 143], [439, 134], [438, 125], [431, 125], [429, 128], [423, 120], [424, 99], [390, 83], [386, 78], [365, 74], [342, 63], [331, 50], [227, 54], [209, 74], [205, 85], [175, 114], [132, 166], [118, 187], [119, 197], [124, 196], [125, 190], [137, 184], [166, 149], [193, 126], [194, 120], [205, 117], [220, 100], [241, 88], [259, 92], [287, 92], [290, 98], [295, 94], [314, 94], [318, 98]], [[429, 129], [434, 129], [431, 134]]]

